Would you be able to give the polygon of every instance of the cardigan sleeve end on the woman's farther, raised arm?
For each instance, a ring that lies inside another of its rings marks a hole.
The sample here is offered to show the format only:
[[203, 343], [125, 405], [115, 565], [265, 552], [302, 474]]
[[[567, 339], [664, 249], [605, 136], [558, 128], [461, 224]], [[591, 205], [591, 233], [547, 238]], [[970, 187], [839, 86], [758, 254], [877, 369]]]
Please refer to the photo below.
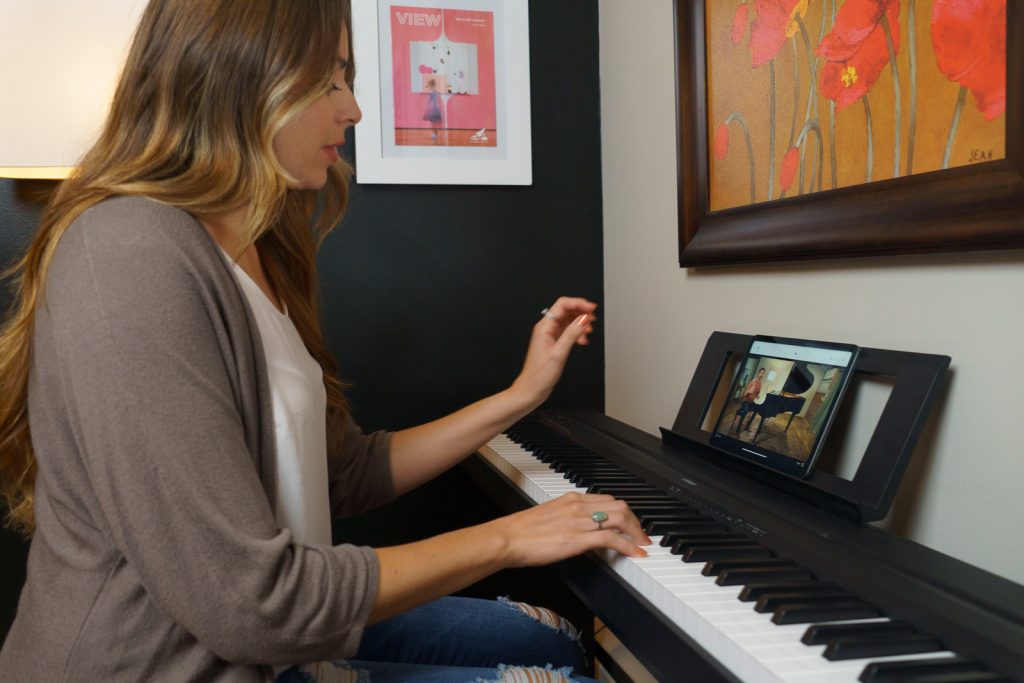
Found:
[[331, 514], [348, 517], [394, 500], [391, 432], [364, 434], [345, 416], [341, 453], [329, 457]]

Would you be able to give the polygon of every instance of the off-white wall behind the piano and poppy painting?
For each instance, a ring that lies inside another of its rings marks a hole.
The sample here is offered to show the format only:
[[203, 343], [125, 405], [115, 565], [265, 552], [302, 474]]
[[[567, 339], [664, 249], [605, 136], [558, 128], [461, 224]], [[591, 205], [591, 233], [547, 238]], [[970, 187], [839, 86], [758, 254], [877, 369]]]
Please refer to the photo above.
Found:
[[670, 426], [715, 330], [950, 355], [891, 528], [1024, 583], [1024, 252], [680, 268], [672, 0], [600, 17], [608, 415]]

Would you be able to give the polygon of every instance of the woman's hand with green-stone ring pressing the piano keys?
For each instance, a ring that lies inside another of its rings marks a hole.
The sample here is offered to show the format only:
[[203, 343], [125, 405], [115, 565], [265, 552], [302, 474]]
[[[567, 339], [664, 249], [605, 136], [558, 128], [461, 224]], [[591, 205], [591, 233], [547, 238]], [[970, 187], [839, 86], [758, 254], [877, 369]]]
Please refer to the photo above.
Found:
[[[595, 512], [608, 516], [600, 528]], [[505, 541], [506, 566], [550, 564], [595, 548], [645, 557], [641, 546], [650, 545], [629, 506], [604, 494], [565, 494], [487, 525]]]

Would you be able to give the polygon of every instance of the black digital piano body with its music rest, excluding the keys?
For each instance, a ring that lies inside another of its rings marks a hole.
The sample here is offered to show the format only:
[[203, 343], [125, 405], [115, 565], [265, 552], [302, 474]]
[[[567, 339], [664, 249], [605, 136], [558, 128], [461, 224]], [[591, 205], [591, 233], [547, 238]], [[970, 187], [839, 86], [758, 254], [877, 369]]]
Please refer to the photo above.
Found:
[[[895, 377], [896, 400], [891, 396], [853, 481], [819, 472], [797, 481], [722, 458], [706, 435], [705, 443], [691, 438], [727, 352], [744, 349], [748, 340], [712, 336], [680, 417], [660, 439], [594, 411], [549, 412], [529, 420], [805, 568], [814, 581], [835, 584], [878, 606], [883, 616], [983, 663], [985, 672], [963, 680], [1024, 681], [1024, 587], [865, 523], [885, 516], [948, 358], [862, 349], [858, 371]], [[504, 507], [530, 504], [483, 458], [464, 467]], [[658, 680], [743, 680], [601, 558], [585, 555], [554, 569]]]

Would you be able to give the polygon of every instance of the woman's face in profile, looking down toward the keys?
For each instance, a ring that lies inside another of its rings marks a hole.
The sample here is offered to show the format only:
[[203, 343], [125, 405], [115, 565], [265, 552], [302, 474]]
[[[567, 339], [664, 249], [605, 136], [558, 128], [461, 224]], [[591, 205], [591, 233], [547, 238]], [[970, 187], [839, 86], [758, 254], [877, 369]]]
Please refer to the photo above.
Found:
[[289, 121], [273, 138], [273, 150], [300, 189], [318, 189], [327, 183], [327, 169], [338, 161], [345, 130], [362, 118], [355, 95], [345, 83], [349, 60], [348, 37], [342, 32], [338, 65], [331, 89]]

